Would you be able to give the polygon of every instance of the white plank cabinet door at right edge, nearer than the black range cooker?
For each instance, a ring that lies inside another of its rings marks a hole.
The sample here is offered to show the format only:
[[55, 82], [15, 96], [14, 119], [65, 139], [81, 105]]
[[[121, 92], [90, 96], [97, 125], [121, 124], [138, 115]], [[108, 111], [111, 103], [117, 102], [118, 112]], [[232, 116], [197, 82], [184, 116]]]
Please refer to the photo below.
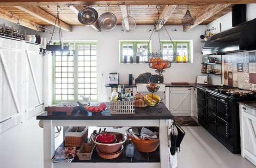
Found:
[[256, 165], [256, 110], [240, 104], [241, 155]]

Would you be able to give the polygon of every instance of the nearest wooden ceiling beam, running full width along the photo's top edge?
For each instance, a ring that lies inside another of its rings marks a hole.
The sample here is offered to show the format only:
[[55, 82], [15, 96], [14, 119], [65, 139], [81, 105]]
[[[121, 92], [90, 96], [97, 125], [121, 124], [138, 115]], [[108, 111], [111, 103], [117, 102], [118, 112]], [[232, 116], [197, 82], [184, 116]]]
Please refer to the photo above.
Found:
[[[227, 4], [253, 4], [255, 0], [224, 0]], [[192, 5], [223, 4], [223, 0], [1, 0], [0, 6], [71, 5]]]

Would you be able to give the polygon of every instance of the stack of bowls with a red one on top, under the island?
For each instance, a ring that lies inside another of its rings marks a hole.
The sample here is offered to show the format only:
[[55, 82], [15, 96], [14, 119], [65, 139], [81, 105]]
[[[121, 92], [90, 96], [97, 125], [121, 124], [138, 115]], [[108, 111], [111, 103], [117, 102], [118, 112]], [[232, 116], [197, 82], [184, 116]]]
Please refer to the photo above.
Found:
[[121, 156], [126, 139], [126, 136], [119, 132], [102, 132], [92, 136], [98, 156], [104, 159]]

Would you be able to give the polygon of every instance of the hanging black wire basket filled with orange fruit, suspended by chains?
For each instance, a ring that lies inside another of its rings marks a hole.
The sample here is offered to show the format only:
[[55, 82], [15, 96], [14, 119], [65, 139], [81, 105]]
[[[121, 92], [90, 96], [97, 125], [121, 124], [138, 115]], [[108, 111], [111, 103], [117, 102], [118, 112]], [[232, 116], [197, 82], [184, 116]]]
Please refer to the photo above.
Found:
[[[158, 5], [159, 6], [159, 5]], [[157, 10], [158, 10], [158, 6], [156, 6]], [[153, 68], [153, 69], [156, 69], [155, 72], [159, 73], [159, 77], [162, 76], [162, 72], [165, 72], [165, 69], [166, 68], [170, 68], [171, 67], [171, 62], [174, 62], [176, 60], [176, 55], [177, 53], [169, 53], [169, 52], [163, 52], [161, 50], [161, 40], [160, 40], [160, 26], [163, 26], [165, 28], [165, 19], [160, 19], [159, 18], [160, 16], [160, 13], [159, 13], [159, 10], [158, 10], [158, 19], [155, 19], [154, 20], [154, 29], [152, 30], [152, 33], [149, 37], [149, 42], [147, 44], [147, 48], [150, 44], [150, 41], [151, 41], [151, 36], [156, 28], [156, 26], [158, 26], [158, 41], [159, 41], [159, 47], [160, 49], [158, 50], [158, 52], [156, 53], [150, 53], [148, 52], [147, 53], [147, 60], [144, 61], [144, 63], [148, 63], [148, 66], [150, 68]], [[165, 28], [165, 31], [167, 33], [167, 35], [169, 36], [170, 40], [171, 40], [171, 36], [169, 35], [168, 31], [166, 30]], [[171, 43], [172, 40], [171, 40]], [[145, 54], [141, 54], [142, 57], [145, 57]]]

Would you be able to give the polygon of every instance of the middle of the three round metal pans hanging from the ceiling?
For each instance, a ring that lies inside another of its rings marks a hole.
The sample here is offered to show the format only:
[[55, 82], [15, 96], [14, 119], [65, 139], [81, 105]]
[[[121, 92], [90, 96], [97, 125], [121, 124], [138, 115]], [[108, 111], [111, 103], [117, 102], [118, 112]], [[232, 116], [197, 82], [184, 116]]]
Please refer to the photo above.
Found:
[[98, 19], [99, 27], [103, 30], [112, 30], [116, 27], [116, 16], [113, 13], [105, 12]]

